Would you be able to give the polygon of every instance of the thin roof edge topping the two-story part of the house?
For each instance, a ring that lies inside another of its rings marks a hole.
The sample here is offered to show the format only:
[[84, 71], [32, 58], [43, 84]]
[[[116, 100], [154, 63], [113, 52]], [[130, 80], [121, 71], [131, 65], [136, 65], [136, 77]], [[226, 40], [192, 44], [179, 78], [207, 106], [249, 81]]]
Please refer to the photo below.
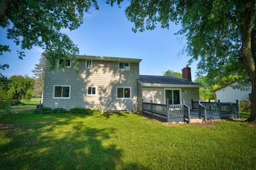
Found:
[[135, 62], [135, 63], [140, 63], [141, 62], [141, 59], [121, 58], [121, 57], [113, 57], [113, 56], [95, 56], [95, 55], [78, 55], [78, 59], [104, 60], [104, 61], [122, 61], [122, 62]]

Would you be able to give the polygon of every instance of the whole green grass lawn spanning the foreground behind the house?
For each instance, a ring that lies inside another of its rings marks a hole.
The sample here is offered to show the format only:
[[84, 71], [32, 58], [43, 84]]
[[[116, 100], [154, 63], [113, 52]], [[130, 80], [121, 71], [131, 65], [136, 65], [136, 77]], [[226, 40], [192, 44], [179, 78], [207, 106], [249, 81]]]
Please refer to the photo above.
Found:
[[164, 126], [136, 114], [0, 115], [0, 169], [254, 169], [256, 125]]

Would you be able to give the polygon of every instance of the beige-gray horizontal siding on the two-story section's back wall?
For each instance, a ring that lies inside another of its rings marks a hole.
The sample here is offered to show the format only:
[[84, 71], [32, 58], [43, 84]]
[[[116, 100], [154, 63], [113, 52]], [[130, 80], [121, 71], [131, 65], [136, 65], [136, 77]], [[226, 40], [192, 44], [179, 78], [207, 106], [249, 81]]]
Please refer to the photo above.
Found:
[[[67, 70], [46, 70], [43, 105], [66, 109], [137, 110], [138, 78], [139, 63], [130, 63], [130, 71], [124, 71], [118, 70], [118, 61], [93, 60], [92, 69], [85, 69], [85, 60], [79, 60], [78, 73], [72, 65]], [[54, 85], [70, 85], [70, 99], [53, 99]], [[86, 86], [97, 86], [97, 95], [87, 96]], [[131, 87], [131, 99], [116, 99], [117, 86]]]

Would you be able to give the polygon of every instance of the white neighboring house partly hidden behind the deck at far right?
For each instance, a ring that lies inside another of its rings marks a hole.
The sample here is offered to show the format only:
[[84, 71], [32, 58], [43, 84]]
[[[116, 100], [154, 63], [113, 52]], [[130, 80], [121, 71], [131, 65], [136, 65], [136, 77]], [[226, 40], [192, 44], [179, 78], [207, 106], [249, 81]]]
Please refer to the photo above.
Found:
[[252, 87], [250, 87], [247, 91], [242, 91], [239, 89], [234, 89], [232, 87], [237, 84], [237, 82], [234, 82], [215, 90], [215, 100], [220, 100], [220, 102], [236, 102], [236, 100], [249, 100], [251, 98]]

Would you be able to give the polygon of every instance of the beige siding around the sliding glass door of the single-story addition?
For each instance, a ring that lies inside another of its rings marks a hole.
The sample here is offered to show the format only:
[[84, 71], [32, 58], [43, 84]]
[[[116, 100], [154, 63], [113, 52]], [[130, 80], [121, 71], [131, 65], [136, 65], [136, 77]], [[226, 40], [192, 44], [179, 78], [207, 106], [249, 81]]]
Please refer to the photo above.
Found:
[[[138, 83], [140, 84], [140, 83]], [[169, 88], [169, 87], [166, 87]], [[181, 100], [185, 100], [185, 104], [188, 107], [191, 106], [191, 99], [194, 101], [199, 100], [199, 88], [198, 87], [173, 87], [173, 88], [179, 88], [181, 90]], [[165, 87], [142, 87], [141, 88], [141, 94], [142, 99], [145, 102], [150, 102], [153, 100], [153, 103], [162, 103], [164, 104], [164, 90]], [[182, 92], [183, 90], [183, 92]], [[139, 85], [138, 85], [138, 93], [139, 93]], [[139, 100], [139, 94], [138, 94], [138, 100]], [[138, 102], [138, 109], [142, 108], [142, 104]]]

